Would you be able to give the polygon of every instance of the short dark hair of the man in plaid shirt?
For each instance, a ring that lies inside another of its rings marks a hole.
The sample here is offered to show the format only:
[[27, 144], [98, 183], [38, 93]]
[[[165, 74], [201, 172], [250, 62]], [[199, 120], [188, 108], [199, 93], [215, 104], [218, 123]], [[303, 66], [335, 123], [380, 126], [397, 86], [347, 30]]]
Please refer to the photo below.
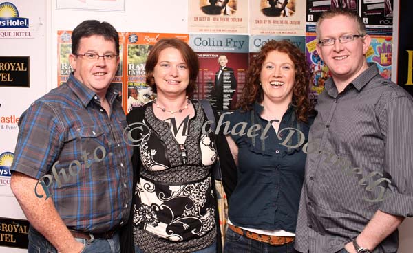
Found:
[[72, 54], [78, 53], [77, 50], [82, 38], [88, 38], [93, 35], [100, 35], [107, 41], [114, 41], [116, 54], [119, 55], [118, 32], [111, 24], [97, 20], [85, 20], [74, 28], [72, 32]]

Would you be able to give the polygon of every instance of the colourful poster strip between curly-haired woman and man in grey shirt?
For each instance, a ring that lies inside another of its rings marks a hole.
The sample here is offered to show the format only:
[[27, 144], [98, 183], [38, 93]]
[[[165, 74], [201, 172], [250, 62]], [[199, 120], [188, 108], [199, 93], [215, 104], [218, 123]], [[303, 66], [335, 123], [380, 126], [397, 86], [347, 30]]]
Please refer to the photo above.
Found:
[[324, 83], [330, 77], [327, 65], [321, 60], [316, 50], [317, 39], [315, 35], [306, 36], [306, 58], [311, 74], [311, 100], [317, 100], [319, 94], [324, 91]]

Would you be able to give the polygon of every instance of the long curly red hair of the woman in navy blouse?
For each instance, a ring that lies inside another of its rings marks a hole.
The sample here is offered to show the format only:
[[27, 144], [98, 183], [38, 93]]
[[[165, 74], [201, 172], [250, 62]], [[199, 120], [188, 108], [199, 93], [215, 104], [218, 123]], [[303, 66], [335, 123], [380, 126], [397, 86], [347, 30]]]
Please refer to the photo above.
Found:
[[296, 106], [295, 113], [298, 120], [308, 122], [308, 115], [310, 111], [312, 111], [312, 105], [308, 99], [308, 93], [310, 92], [310, 71], [306, 62], [306, 56], [295, 45], [286, 40], [271, 40], [261, 47], [260, 52], [255, 56], [246, 70], [246, 84], [244, 89], [242, 89], [242, 96], [237, 107], [243, 111], [249, 111], [255, 102], [261, 103], [264, 99], [264, 93], [260, 85], [260, 74], [266, 56], [272, 51], [286, 53], [291, 61], [293, 61], [295, 84], [293, 87], [292, 103]]

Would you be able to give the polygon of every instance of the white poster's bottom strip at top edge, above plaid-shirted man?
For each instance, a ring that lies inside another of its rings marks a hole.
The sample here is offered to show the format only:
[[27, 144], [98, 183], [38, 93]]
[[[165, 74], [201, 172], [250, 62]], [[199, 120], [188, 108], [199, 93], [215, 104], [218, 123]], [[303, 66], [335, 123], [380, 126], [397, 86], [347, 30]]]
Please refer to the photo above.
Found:
[[124, 12], [125, 0], [56, 0], [57, 9]]

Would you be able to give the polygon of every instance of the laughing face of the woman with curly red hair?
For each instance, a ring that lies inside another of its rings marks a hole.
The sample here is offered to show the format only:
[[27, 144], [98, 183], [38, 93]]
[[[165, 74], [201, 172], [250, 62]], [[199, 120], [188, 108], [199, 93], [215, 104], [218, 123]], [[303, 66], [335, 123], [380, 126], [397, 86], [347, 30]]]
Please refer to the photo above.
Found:
[[262, 64], [260, 82], [264, 100], [291, 102], [295, 83], [295, 66], [288, 54], [271, 51]]

